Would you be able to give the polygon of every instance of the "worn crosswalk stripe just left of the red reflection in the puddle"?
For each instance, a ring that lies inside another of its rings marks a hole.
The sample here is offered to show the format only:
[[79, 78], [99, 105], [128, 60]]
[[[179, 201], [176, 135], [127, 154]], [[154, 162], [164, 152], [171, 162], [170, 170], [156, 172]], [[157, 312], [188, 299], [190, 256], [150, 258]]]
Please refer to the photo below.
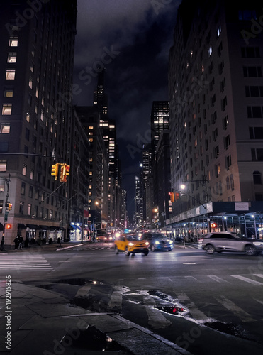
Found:
[[153, 297], [144, 296], [143, 303], [145, 305], [145, 310], [148, 315], [148, 324], [151, 327], [155, 329], [160, 329], [167, 328], [169, 327], [169, 325], [172, 324], [172, 322], [167, 320], [164, 315], [162, 315], [162, 312], [160, 310], [157, 310], [157, 308], [153, 308], [153, 306], [155, 306], [155, 300], [153, 299]]

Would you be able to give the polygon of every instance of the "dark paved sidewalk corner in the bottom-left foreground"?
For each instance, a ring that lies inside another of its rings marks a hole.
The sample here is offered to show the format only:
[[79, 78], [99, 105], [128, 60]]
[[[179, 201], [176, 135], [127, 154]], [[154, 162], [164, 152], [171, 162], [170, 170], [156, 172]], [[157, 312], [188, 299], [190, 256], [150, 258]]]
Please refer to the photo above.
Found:
[[10, 308], [4, 304], [4, 287], [0, 300], [0, 354], [191, 355], [116, 313], [72, 306], [54, 291], [14, 282]]

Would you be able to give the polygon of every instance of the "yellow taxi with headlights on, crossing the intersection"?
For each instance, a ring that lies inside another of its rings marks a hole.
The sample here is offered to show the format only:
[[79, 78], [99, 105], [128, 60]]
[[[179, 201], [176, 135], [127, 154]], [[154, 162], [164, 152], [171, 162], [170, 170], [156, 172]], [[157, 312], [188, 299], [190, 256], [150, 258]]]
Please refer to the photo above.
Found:
[[123, 251], [127, 256], [130, 254], [134, 255], [134, 253], [143, 253], [145, 255], [149, 253], [149, 242], [143, 241], [138, 234], [122, 234], [116, 237], [114, 244], [116, 254], [120, 251]]

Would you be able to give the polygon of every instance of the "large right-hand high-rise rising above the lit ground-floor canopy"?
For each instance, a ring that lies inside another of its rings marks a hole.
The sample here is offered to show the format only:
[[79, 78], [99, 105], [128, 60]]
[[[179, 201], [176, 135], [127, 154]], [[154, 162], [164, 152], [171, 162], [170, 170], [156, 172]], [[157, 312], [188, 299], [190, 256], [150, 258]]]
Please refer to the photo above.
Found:
[[260, 16], [254, 0], [179, 6], [169, 55], [171, 183], [179, 194], [174, 226], [203, 219], [203, 231], [216, 219], [220, 230], [247, 234], [240, 220], [261, 218], [254, 214], [263, 208]]

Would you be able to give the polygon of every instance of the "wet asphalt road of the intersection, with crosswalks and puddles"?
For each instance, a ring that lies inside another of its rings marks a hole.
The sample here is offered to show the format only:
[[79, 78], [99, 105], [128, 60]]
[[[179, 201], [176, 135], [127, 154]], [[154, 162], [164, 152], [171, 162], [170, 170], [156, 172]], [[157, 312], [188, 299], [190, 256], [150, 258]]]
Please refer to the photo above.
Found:
[[5, 265], [13, 281], [55, 290], [86, 310], [118, 312], [191, 354], [262, 354], [262, 255], [208, 256], [180, 245], [125, 256], [96, 243], [1, 254], [1, 263], [1, 276]]

